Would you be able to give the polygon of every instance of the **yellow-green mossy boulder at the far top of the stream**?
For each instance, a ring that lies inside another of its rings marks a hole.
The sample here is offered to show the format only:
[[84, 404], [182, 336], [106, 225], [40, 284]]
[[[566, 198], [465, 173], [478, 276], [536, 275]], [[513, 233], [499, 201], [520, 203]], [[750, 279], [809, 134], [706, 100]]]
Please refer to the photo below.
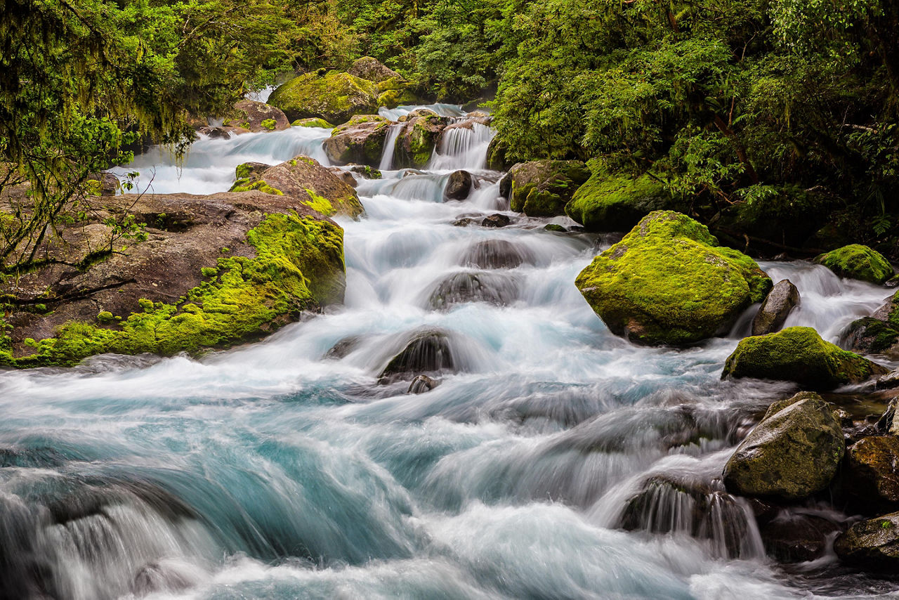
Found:
[[280, 85], [269, 103], [291, 121], [317, 117], [332, 123], [349, 121], [354, 114], [378, 111], [378, 85], [349, 73], [307, 73]]

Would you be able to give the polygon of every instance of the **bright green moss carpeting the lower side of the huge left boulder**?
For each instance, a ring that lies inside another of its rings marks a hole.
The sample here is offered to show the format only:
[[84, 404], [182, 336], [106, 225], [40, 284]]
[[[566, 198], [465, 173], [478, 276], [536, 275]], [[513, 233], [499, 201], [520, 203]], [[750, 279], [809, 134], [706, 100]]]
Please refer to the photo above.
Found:
[[343, 230], [334, 223], [271, 214], [247, 242], [255, 258], [219, 258], [218, 279], [200, 283], [177, 304], [138, 300], [142, 311], [113, 327], [68, 323], [22, 358], [13, 358], [6, 336], [0, 361], [32, 367], [102, 353], [196, 354], [263, 336], [300, 310], [343, 298]]

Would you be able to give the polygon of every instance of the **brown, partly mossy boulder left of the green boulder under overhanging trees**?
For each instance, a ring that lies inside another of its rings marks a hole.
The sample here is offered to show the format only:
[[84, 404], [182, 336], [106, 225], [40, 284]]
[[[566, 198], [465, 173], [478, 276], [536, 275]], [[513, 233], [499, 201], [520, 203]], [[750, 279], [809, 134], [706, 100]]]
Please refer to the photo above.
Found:
[[532, 160], [518, 163], [503, 177], [512, 210], [529, 217], [565, 214], [565, 204], [590, 177], [590, 169], [579, 160]]

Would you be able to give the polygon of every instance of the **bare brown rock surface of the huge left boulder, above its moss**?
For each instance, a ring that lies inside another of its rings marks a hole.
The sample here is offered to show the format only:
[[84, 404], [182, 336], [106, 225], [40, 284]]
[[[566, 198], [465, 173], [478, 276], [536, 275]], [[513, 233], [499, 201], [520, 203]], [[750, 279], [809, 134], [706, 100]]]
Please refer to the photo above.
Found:
[[[43, 306], [47, 311], [13, 310], [5, 319], [13, 326], [15, 355], [33, 352], [23, 344], [26, 338], [54, 336], [68, 321], [94, 322], [101, 311], [129, 315], [140, 299], [176, 303], [200, 285], [201, 269], [215, 266], [219, 257], [253, 257], [246, 233], [266, 214], [296, 210], [301, 217], [331, 222], [289, 196], [256, 191], [146, 194], [137, 201], [133, 195], [115, 196], [104, 199], [102, 207], [85, 222], [65, 228], [62, 240], [46, 245], [52, 263], [23, 275], [14, 290], [6, 290], [23, 307]], [[145, 241], [114, 238], [103, 223], [125, 210], [146, 227]], [[90, 265], [92, 256], [110, 247], [112, 255]], [[335, 282], [320, 302], [342, 300], [343, 282]]]

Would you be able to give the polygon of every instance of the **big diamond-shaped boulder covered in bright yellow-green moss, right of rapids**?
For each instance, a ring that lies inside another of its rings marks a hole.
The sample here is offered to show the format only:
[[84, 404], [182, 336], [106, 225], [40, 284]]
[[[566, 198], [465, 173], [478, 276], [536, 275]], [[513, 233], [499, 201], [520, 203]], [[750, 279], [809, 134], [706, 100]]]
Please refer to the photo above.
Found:
[[575, 284], [612, 333], [645, 345], [715, 336], [771, 288], [752, 258], [673, 211], [645, 216]]

